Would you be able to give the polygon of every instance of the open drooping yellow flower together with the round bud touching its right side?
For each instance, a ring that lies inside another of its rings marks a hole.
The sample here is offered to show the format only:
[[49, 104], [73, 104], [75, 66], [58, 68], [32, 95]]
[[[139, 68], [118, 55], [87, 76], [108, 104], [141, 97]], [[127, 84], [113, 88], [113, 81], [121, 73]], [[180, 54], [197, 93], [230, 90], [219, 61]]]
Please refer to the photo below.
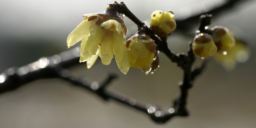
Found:
[[[116, 3], [114, 3], [116, 4]], [[91, 68], [98, 57], [104, 65], [109, 65], [115, 55], [116, 63], [124, 74], [130, 67], [151, 71], [156, 45], [151, 37], [136, 34], [126, 40], [126, 26], [123, 17], [112, 6], [101, 13], [86, 14], [82, 21], [67, 38], [68, 48], [82, 40], [80, 62]]]

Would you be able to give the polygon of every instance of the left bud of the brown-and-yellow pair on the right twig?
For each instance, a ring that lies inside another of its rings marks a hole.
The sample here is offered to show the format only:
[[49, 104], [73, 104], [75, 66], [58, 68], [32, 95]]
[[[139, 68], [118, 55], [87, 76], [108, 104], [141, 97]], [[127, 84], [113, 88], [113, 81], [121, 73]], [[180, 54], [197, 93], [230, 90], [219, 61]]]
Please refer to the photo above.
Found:
[[206, 58], [213, 56], [217, 52], [211, 35], [207, 33], [199, 33], [193, 40], [192, 49], [195, 55]]

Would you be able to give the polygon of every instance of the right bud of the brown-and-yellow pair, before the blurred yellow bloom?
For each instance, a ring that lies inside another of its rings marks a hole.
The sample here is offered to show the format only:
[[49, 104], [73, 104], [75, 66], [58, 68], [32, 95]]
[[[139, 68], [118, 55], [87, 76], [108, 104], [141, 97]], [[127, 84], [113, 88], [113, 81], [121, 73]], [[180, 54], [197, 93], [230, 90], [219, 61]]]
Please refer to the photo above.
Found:
[[227, 51], [231, 49], [233, 46], [235, 46], [235, 39], [231, 32], [226, 27], [213, 27], [212, 36], [219, 53]]

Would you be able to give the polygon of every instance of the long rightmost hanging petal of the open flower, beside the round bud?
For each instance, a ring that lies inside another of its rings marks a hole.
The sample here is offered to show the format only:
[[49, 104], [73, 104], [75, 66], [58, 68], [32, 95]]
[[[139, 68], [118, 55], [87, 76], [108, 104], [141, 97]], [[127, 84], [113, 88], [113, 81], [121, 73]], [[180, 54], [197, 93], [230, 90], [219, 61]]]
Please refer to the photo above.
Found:
[[126, 49], [126, 39], [123, 37], [122, 33], [113, 32], [114, 35], [114, 53], [117, 66], [126, 74], [130, 67], [131, 62], [129, 59], [129, 52]]

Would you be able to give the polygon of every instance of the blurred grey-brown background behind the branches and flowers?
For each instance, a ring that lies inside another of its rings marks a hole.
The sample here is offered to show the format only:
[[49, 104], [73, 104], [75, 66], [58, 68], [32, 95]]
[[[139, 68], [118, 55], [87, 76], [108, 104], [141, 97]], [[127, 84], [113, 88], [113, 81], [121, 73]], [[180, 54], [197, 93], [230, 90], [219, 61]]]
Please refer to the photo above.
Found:
[[[104, 11], [111, 0], [1, 0], [0, 4], [0, 72], [13, 66], [21, 67], [67, 50], [68, 34], [83, 20], [82, 15]], [[121, 2], [121, 1], [117, 1]], [[148, 0], [123, 1], [142, 21], [149, 22], [155, 10], [173, 10], [183, 19], [198, 9], [210, 9], [224, 0]], [[41, 79], [15, 91], [0, 95], [1, 128], [84, 128], [84, 127], [173, 127], [173, 128], [254, 128], [256, 126], [255, 87], [255, 14], [256, 1], [237, 3], [229, 11], [213, 16], [212, 26], [229, 28], [235, 37], [248, 42], [251, 50], [246, 63], [226, 71], [213, 58], [189, 91], [188, 117], [175, 117], [157, 124], [138, 110], [116, 101], [104, 101], [95, 94], [72, 86], [61, 79]], [[128, 35], [136, 26], [124, 18]], [[191, 23], [193, 28], [198, 22]], [[194, 31], [194, 30], [193, 30]], [[176, 53], [185, 52], [189, 33], [180, 30], [169, 36], [169, 47]], [[79, 46], [79, 44], [76, 44]], [[155, 103], [162, 109], [172, 106], [179, 94], [177, 83], [183, 72], [160, 53], [160, 67], [145, 75], [131, 68], [127, 75], [112, 60], [109, 66], [97, 60], [91, 69], [85, 63], [69, 69], [91, 81], [101, 81], [108, 73], [118, 73], [109, 88], [139, 101]]]

